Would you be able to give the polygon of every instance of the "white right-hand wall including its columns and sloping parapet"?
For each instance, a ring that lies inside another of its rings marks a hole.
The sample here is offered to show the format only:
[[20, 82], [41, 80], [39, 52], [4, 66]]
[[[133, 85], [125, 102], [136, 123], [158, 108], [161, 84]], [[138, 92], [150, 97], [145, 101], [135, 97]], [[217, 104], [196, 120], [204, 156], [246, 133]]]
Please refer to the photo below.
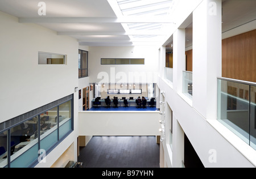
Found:
[[[181, 167], [181, 161], [184, 160], [185, 133], [205, 167], [255, 167], [256, 151], [216, 120], [217, 77], [221, 76], [221, 1], [197, 2], [197, 6], [188, 8], [187, 16], [181, 15], [183, 18], [180, 16], [177, 19], [176, 24], [179, 29], [173, 30], [174, 47], [177, 45], [175, 48], [179, 48], [178, 50], [184, 49], [180, 45], [184, 42], [184, 36], [181, 36], [180, 32], [186, 27], [184, 24], [187, 18], [189, 19], [189, 14], [195, 12], [193, 14], [193, 37], [195, 37], [193, 38], [193, 52], [195, 52], [193, 53], [193, 59], [195, 59], [193, 99], [189, 100], [180, 93], [182, 92], [180, 84], [182, 75], [179, 73], [183, 70], [183, 65], [179, 66], [183, 60], [181, 56], [177, 58], [174, 56], [173, 84], [170, 85], [163, 76], [159, 78], [159, 89], [166, 92], [162, 99], [173, 111], [172, 156], [168, 151], [168, 141], [164, 141], [162, 143], [164, 161], [167, 167]], [[216, 15], [208, 14], [208, 8], [212, 7], [209, 6], [210, 2], [216, 2]], [[184, 54], [177, 50], [176, 53], [176, 56]], [[212, 160], [213, 157], [215, 157], [214, 160]]]

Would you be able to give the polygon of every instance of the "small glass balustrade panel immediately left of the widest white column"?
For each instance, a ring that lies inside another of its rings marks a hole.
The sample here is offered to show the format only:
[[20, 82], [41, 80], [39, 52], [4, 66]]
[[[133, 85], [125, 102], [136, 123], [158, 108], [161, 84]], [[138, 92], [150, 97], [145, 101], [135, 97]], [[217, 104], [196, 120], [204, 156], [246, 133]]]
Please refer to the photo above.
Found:
[[191, 71], [183, 71], [183, 93], [192, 99], [193, 73]]

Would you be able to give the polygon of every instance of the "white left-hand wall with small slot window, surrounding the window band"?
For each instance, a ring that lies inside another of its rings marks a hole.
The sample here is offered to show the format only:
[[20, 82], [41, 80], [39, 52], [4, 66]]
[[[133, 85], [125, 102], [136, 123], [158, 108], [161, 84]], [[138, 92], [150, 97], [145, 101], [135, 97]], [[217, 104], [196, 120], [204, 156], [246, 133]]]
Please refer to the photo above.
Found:
[[[36, 24], [0, 12], [0, 122], [75, 93], [78, 86], [78, 42]], [[38, 52], [67, 55], [67, 65], [38, 65]], [[74, 127], [68, 138], [39, 167], [51, 167], [78, 134], [78, 93], [74, 94]]]

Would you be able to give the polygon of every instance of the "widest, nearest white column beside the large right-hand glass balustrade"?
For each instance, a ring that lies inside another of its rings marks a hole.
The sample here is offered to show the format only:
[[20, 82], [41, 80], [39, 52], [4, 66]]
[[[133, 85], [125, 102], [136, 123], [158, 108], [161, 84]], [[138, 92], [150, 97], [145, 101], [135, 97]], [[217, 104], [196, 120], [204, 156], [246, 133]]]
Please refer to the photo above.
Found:
[[221, 0], [204, 0], [193, 11], [193, 108], [208, 120], [217, 118], [221, 5]]

